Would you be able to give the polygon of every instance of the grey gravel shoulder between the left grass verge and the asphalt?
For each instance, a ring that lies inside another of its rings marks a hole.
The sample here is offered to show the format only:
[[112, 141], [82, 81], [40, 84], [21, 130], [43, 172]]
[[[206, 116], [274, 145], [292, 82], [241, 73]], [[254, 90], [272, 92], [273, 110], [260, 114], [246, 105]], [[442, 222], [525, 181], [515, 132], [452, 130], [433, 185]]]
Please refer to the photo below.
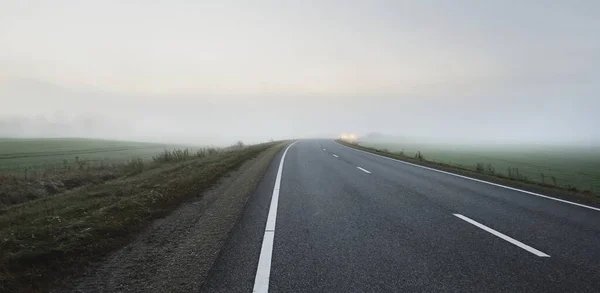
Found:
[[199, 290], [249, 194], [284, 145], [244, 163], [211, 190], [154, 221], [133, 242], [52, 292]]

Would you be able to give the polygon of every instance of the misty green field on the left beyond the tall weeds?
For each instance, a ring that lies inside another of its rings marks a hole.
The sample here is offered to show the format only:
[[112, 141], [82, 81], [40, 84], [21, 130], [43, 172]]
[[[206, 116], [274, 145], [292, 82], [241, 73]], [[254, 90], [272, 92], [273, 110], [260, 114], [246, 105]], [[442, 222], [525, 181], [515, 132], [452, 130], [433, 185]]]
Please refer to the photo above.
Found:
[[144, 160], [177, 145], [112, 141], [84, 138], [12, 139], [0, 138], [0, 173], [22, 173], [60, 168], [76, 160], [91, 165], [114, 164], [134, 157]]

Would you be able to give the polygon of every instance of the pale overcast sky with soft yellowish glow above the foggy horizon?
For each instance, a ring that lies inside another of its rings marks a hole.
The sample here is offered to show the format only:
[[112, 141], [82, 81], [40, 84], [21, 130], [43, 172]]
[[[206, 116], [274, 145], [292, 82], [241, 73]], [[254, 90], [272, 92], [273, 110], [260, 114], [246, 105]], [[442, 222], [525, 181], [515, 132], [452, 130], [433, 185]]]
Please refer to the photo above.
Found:
[[589, 144], [599, 93], [596, 0], [0, 0], [0, 136]]

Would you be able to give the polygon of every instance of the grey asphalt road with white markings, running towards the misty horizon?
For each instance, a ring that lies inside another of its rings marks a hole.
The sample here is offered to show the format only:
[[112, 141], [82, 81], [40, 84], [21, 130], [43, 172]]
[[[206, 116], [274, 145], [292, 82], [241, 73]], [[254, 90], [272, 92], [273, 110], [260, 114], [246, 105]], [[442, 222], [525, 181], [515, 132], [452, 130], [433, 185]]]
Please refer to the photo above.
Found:
[[276, 186], [282, 155], [201, 291], [600, 292], [598, 210], [330, 140], [291, 146]]

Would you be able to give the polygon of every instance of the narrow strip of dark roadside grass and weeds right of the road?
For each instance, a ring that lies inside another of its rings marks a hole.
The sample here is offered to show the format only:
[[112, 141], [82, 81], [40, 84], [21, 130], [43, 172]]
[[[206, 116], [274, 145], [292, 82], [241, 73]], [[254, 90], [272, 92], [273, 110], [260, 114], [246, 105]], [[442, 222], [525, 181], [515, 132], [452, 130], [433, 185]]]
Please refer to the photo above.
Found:
[[591, 189], [577, 188], [571, 184], [560, 184], [560, 181], [556, 178], [556, 176], [546, 175], [543, 172], [540, 173], [540, 178], [538, 180], [524, 175], [517, 167], [508, 167], [502, 172], [496, 169], [491, 163], [480, 162], [475, 163], [472, 166], [455, 165], [431, 160], [425, 154], [421, 153], [421, 151], [417, 151], [414, 153], [414, 155], [410, 155], [404, 151], [394, 152], [388, 149], [379, 149], [343, 140], [338, 140], [338, 142], [359, 150], [472, 178], [496, 182], [533, 192], [541, 192], [557, 197], [565, 197], [591, 203], [600, 203], [600, 196]]

